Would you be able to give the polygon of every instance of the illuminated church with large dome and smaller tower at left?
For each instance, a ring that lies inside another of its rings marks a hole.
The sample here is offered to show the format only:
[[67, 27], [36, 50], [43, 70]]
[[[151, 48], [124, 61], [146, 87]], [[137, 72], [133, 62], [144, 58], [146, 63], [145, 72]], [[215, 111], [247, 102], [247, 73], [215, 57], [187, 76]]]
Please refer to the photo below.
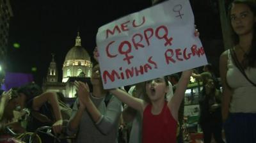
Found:
[[76, 89], [74, 81], [90, 81], [92, 75], [92, 61], [88, 52], [81, 45], [81, 37], [77, 33], [76, 43], [72, 47], [63, 63], [62, 82], [58, 82], [58, 70], [52, 54], [52, 61], [49, 65], [46, 80], [42, 84], [44, 91], [61, 92], [65, 98], [74, 98]]

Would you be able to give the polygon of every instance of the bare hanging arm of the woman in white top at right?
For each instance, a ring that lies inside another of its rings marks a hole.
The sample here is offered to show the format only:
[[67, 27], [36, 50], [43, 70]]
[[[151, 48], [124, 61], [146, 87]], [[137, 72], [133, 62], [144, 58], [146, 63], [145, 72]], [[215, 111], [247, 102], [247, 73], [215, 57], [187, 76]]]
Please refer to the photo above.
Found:
[[231, 100], [232, 89], [227, 84], [227, 51], [223, 52], [220, 56], [220, 78], [223, 89], [223, 96], [221, 102], [222, 119], [225, 121], [228, 117], [229, 104]]

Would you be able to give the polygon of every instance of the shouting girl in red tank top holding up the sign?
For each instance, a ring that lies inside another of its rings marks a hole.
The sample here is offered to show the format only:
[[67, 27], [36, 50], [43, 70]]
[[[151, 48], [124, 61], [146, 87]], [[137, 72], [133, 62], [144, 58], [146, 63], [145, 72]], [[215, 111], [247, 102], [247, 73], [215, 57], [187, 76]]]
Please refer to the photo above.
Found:
[[166, 102], [164, 96], [168, 93], [168, 78], [159, 77], [145, 82], [148, 100], [141, 100], [129, 96], [122, 89], [111, 89], [119, 100], [138, 110], [143, 117], [143, 143], [175, 143], [177, 119], [180, 103], [189, 82], [191, 70], [182, 72], [179, 84], [173, 97]]

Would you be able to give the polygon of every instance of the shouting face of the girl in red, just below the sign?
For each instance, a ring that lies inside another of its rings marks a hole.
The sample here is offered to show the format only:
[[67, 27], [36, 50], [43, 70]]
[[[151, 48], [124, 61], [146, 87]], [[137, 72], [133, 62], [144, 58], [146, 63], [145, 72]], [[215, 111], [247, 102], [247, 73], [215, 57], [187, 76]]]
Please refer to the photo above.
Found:
[[164, 95], [168, 92], [168, 86], [166, 86], [164, 77], [154, 80], [148, 80], [146, 82], [146, 93], [151, 101], [164, 98]]

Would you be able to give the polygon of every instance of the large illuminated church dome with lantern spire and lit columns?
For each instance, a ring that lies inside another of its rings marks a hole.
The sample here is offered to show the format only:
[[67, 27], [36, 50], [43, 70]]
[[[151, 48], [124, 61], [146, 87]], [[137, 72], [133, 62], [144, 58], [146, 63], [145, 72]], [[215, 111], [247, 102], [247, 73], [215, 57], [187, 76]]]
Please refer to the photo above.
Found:
[[67, 82], [68, 77], [77, 77], [79, 73], [85, 73], [85, 77], [92, 75], [92, 62], [88, 52], [81, 45], [79, 33], [76, 37], [76, 45], [70, 49], [63, 63], [63, 79]]

